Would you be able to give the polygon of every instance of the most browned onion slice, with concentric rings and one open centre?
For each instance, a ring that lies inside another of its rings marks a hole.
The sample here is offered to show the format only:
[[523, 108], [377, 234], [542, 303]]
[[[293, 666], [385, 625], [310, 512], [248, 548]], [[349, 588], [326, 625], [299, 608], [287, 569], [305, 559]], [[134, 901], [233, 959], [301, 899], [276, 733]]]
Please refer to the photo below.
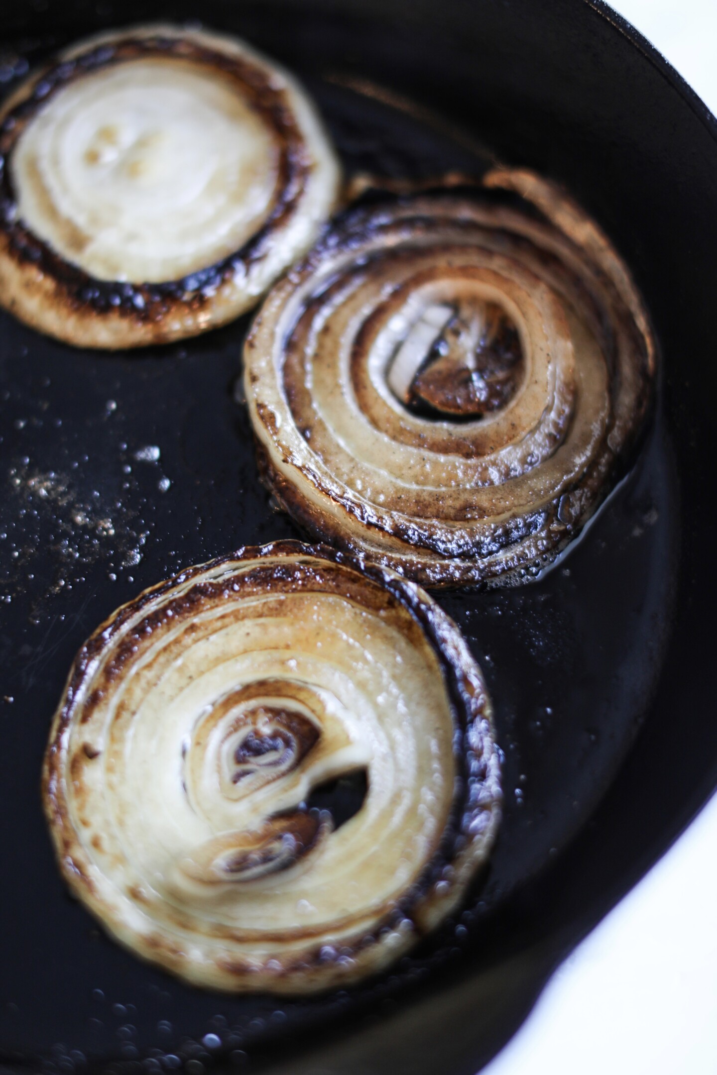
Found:
[[344, 214], [247, 340], [259, 465], [309, 532], [430, 586], [515, 584], [629, 459], [655, 348], [598, 227], [529, 172]]

